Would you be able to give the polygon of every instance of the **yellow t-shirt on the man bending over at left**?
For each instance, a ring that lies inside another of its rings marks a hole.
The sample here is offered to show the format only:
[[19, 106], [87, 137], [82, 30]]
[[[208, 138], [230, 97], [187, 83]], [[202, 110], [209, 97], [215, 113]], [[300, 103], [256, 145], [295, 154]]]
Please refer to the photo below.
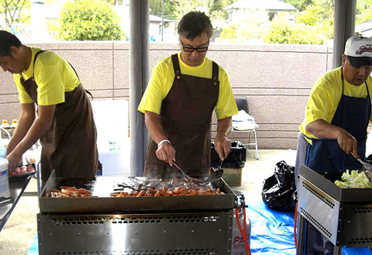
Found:
[[52, 106], [64, 102], [64, 92], [72, 91], [79, 85], [79, 79], [74, 69], [60, 55], [52, 51], [40, 53], [33, 67], [36, 52], [39, 48], [31, 47], [32, 59], [30, 67], [22, 74], [13, 74], [16, 82], [19, 101], [21, 103], [33, 103], [30, 96], [21, 85], [20, 77], [26, 81], [33, 77], [35, 72], [35, 82], [38, 84], [38, 105]]

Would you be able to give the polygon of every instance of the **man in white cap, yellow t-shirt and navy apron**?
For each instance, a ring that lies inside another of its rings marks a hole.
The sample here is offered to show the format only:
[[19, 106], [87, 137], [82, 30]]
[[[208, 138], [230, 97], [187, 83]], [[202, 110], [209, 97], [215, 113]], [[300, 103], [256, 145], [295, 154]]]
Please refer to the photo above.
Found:
[[[366, 159], [371, 71], [372, 39], [349, 38], [342, 67], [322, 75], [310, 92], [298, 135], [295, 176], [302, 164], [319, 173], [361, 169], [354, 157]], [[333, 254], [333, 245], [323, 242], [320, 232], [307, 230], [304, 254]]]

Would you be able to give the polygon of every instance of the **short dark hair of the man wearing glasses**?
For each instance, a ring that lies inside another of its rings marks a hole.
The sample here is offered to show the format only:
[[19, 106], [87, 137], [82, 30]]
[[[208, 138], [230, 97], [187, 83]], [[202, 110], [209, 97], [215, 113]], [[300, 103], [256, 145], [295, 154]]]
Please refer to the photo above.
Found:
[[179, 36], [193, 40], [201, 33], [206, 32], [208, 38], [212, 38], [213, 26], [210, 18], [201, 11], [191, 11], [179, 21]]

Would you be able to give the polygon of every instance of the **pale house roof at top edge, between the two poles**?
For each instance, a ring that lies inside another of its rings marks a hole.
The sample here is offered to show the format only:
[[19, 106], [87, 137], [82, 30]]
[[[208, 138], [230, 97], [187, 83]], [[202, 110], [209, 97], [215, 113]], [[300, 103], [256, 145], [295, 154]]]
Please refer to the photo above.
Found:
[[224, 8], [224, 11], [231, 9], [244, 9], [249, 8], [252, 10], [276, 10], [276, 11], [295, 11], [295, 6], [284, 3], [280, 0], [239, 0], [234, 4], [230, 4]]

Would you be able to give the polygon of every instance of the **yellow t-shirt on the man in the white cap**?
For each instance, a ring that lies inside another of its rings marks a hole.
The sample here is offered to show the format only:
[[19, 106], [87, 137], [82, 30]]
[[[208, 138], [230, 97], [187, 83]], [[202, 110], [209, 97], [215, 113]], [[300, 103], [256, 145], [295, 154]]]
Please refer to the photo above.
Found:
[[[372, 77], [367, 79], [368, 91], [372, 97]], [[344, 95], [356, 98], [366, 98], [366, 84], [355, 86], [344, 79]], [[306, 126], [315, 120], [325, 120], [332, 123], [334, 113], [342, 96], [341, 67], [322, 75], [312, 87], [310, 98], [305, 109], [305, 120], [300, 125], [300, 131], [305, 137], [317, 138], [306, 132]], [[370, 118], [371, 119], [371, 118]]]

